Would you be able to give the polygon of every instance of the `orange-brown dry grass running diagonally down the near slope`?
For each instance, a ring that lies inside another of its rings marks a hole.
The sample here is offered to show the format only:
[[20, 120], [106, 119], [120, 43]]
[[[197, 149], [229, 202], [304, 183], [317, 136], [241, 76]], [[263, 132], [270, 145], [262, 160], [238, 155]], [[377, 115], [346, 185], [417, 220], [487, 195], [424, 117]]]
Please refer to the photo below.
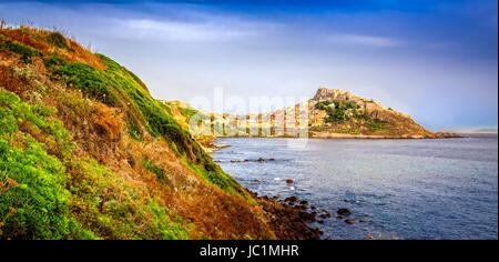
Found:
[[[104, 68], [95, 54], [71, 39], [67, 39], [71, 50], [48, 44], [43, 39], [49, 33], [44, 29], [24, 26], [0, 27], [0, 36], [35, 48], [43, 54], [57, 51], [68, 61]], [[121, 113], [128, 110], [125, 97], [120, 97], [124, 108], [111, 108], [85, 98], [79, 90], [67, 88], [62, 81], [51, 79], [40, 58], [26, 64], [19, 57], [0, 51], [0, 87], [17, 93], [22, 100], [54, 107], [55, 118], [72, 135], [74, 158], [93, 158], [144, 198], [160, 199], [161, 205], [196, 225], [197, 230], [191, 232], [191, 238], [197, 239], [202, 234], [211, 239], [275, 238], [261, 209], [206, 182], [189, 169], [163, 139], [154, 139], [147, 133], [143, 141], [131, 139], [124, 124], [125, 115]], [[136, 110], [131, 112], [141, 121]], [[30, 132], [37, 140], [47, 142], [42, 132]], [[55, 150], [52, 152], [58, 154]], [[143, 159], [163, 169], [167, 182], [160, 181], [143, 168]]]

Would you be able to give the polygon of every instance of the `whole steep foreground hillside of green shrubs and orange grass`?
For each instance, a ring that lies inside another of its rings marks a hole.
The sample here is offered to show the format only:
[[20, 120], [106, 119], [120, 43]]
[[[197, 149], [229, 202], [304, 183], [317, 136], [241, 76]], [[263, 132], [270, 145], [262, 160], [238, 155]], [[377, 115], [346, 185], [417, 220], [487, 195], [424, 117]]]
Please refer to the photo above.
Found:
[[59, 32], [0, 29], [0, 239], [273, 239], [172, 109]]

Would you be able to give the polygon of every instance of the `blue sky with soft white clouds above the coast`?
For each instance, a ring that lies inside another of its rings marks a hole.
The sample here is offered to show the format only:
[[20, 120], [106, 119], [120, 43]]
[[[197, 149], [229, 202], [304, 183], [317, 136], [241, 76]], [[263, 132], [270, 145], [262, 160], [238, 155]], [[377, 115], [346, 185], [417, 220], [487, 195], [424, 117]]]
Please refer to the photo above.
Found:
[[67, 33], [157, 99], [325, 87], [432, 131], [498, 125], [497, 0], [0, 0], [0, 18]]

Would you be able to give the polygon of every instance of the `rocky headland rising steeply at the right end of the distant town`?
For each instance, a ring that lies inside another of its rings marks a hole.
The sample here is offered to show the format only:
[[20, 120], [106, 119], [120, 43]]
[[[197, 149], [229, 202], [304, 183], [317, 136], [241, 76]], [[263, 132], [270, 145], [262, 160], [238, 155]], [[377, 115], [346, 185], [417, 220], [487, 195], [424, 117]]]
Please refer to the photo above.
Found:
[[407, 114], [337, 89], [319, 88], [309, 104], [309, 131], [313, 137], [417, 139], [450, 135], [436, 135]]

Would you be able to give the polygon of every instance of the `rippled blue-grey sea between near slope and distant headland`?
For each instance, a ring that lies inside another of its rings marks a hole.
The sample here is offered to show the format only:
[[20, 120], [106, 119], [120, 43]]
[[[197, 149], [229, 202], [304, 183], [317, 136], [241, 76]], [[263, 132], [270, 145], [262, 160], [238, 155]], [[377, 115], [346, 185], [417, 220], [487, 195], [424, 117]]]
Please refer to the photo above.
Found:
[[[310, 223], [324, 239], [498, 239], [497, 134], [217, 143], [231, 147], [212, 157], [243, 187], [282, 200], [295, 195], [333, 213]], [[352, 215], [339, 220], [338, 209]]]

